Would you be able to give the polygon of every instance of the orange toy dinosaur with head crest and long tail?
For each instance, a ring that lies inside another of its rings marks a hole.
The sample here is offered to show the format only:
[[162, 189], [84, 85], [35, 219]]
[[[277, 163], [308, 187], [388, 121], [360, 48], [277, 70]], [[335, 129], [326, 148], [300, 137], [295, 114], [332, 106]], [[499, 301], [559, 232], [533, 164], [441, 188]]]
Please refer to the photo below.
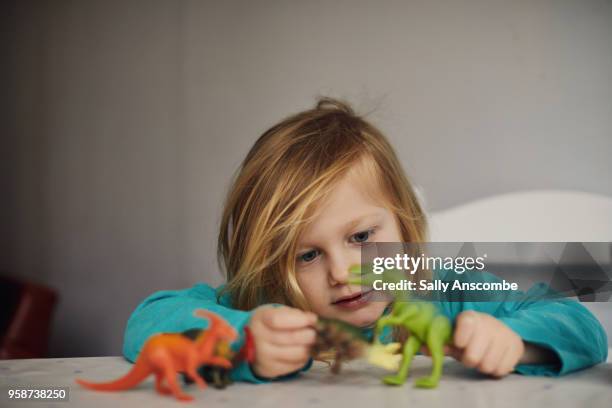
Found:
[[[215, 354], [220, 342], [231, 343], [238, 337], [236, 330], [217, 314], [197, 309], [197, 317], [206, 318], [209, 326], [194, 339], [181, 333], [160, 333], [145, 343], [134, 367], [123, 377], [105, 383], [92, 383], [77, 379], [83, 387], [97, 391], [119, 391], [135, 387], [150, 374], [155, 374], [155, 389], [158, 393], [173, 394], [181, 401], [191, 401], [193, 397], [184, 393], [177, 381], [177, 373], [183, 372], [201, 389], [206, 382], [197, 373], [200, 366], [217, 366], [231, 369], [232, 363], [225, 357]], [[163, 383], [164, 379], [167, 385]]]

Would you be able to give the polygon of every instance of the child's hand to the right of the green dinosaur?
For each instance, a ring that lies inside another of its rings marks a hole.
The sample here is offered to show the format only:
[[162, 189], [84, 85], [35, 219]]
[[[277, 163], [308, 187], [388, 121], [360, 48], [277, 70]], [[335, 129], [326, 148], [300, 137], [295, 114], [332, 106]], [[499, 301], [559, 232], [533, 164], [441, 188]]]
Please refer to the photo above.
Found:
[[510, 374], [525, 352], [523, 340], [512, 329], [475, 311], [459, 314], [453, 340], [446, 351], [449, 355], [494, 377]]

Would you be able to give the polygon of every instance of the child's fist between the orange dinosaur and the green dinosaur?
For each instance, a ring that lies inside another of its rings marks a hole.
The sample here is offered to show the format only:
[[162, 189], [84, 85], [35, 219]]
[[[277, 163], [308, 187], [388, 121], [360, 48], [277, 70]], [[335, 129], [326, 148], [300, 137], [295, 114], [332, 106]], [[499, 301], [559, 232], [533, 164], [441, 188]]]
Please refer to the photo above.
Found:
[[304, 367], [315, 342], [317, 315], [291, 307], [258, 307], [249, 327], [255, 341], [253, 372], [264, 378]]

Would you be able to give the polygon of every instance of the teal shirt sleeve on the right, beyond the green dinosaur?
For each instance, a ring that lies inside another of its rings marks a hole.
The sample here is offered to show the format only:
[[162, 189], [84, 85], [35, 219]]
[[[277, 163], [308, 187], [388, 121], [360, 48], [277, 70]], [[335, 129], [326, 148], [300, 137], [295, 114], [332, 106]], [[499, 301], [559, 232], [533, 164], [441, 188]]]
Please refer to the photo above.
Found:
[[[457, 278], [451, 271], [444, 279]], [[501, 281], [486, 272], [465, 273], [458, 279], [462, 282]], [[509, 300], [504, 300], [503, 295], [496, 295], [495, 299], [495, 302], [443, 302], [442, 309], [453, 321], [466, 310], [493, 315], [523, 341], [549, 349], [557, 356], [556, 364], [518, 365], [515, 371], [520, 374], [559, 376], [606, 361], [606, 332], [597, 318], [578, 301], [553, 298], [549, 286], [544, 283], [538, 283], [518, 296], [513, 294]]]

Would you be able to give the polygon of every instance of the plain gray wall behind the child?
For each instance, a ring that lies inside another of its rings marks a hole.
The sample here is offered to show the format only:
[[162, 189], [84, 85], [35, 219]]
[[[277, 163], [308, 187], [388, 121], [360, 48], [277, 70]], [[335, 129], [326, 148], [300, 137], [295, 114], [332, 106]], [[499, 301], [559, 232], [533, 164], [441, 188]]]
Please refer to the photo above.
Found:
[[432, 210], [612, 196], [609, 1], [14, 3], [0, 268], [61, 291], [52, 355], [120, 354], [147, 294], [220, 283], [232, 172], [317, 94], [372, 111]]

